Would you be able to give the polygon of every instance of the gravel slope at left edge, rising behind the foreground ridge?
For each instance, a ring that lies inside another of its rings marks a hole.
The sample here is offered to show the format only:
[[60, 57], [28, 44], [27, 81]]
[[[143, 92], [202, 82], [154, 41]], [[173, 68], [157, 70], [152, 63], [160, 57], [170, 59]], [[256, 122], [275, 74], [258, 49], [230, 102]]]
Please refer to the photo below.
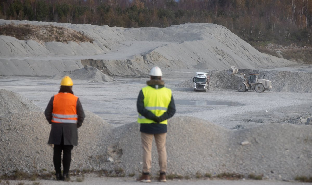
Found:
[[27, 98], [9, 90], [0, 89], [0, 117], [8, 113], [43, 110]]

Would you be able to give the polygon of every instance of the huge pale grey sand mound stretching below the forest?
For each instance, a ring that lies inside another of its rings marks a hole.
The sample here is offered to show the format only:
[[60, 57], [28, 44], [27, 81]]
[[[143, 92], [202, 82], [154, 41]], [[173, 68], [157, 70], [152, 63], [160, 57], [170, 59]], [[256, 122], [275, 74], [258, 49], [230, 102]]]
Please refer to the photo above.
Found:
[[[170, 71], [194, 68], [220, 70], [232, 65], [255, 69], [297, 64], [260, 53], [226, 27], [216, 24], [185, 23], [166, 28], [123, 28], [0, 19], [0, 24], [11, 22], [16, 25], [64, 27], [83, 32], [94, 41], [45, 42], [41, 45], [32, 40], [21, 41], [0, 36], [0, 40], [7, 43], [0, 45], [3, 51], [0, 58], [1, 75], [47, 76], [46, 73], [51, 73], [49, 71], [75, 70], [77, 65], [80, 66], [78, 61], [90, 59], [99, 61], [100, 67], [107, 66], [112, 75], [121, 76], [144, 76], [148, 74], [146, 69], [155, 65]], [[49, 56], [58, 62], [43, 62], [49, 60]], [[64, 69], [67, 67], [62, 65], [65, 60], [71, 61], [71, 64], [78, 63], [72, 65], [71, 69]], [[86, 61], [85, 64], [92, 66], [89, 63]]]

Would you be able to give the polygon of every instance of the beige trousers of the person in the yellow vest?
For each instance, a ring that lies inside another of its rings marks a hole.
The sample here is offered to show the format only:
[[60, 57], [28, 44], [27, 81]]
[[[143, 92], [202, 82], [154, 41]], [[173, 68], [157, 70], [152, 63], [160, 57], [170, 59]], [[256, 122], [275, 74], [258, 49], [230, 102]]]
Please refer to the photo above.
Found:
[[158, 164], [160, 172], [166, 172], [167, 170], [167, 151], [166, 151], [166, 136], [163, 134], [146, 134], [141, 132], [142, 144], [143, 144], [143, 172], [149, 173], [152, 162], [152, 142], [153, 136], [155, 137], [157, 152], [158, 152]]

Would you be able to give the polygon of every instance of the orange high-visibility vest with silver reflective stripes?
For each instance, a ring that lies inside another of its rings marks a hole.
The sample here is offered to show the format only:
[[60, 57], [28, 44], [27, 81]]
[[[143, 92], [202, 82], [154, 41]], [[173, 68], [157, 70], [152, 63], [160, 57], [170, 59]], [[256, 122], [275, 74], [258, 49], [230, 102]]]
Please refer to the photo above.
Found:
[[53, 123], [77, 123], [78, 97], [71, 93], [58, 93], [54, 95], [52, 122]]

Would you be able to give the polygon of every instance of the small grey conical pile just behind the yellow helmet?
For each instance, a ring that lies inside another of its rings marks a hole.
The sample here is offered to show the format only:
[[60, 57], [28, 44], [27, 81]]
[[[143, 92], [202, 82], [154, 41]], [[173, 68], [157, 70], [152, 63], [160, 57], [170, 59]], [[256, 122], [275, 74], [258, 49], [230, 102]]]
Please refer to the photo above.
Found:
[[110, 76], [102, 73], [95, 67], [90, 67], [85, 65], [82, 69], [76, 69], [73, 71], [64, 71], [62, 73], [58, 73], [49, 79], [62, 79], [64, 76], [69, 76], [73, 80], [86, 80], [91, 82], [111, 82], [116, 81]]

